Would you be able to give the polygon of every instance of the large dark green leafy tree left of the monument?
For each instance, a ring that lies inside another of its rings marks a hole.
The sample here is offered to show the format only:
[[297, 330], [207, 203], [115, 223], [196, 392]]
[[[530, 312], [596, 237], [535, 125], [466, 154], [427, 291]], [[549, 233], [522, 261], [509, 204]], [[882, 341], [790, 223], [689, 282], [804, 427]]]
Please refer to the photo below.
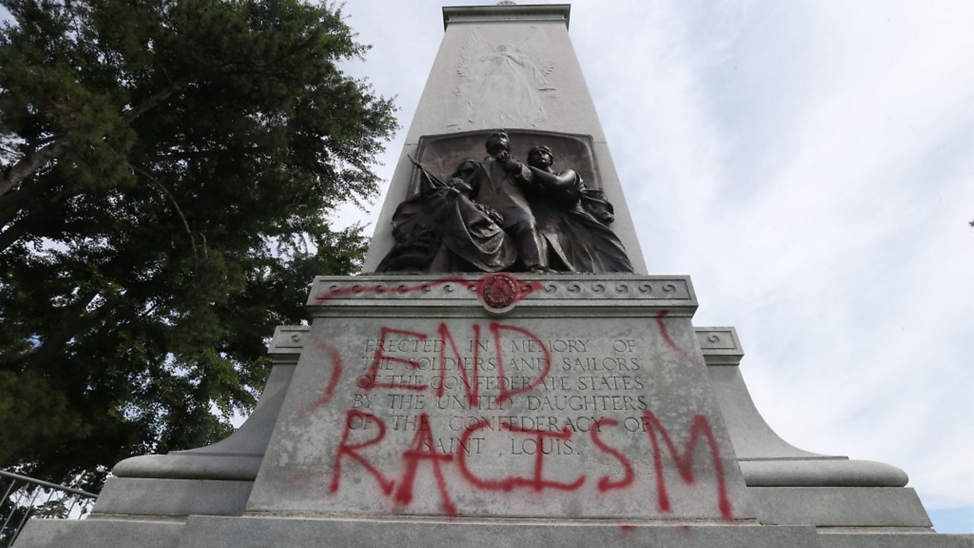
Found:
[[360, 265], [393, 105], [305, 0], [0, 0], [0, 467], [99, 489], [212, 443]]

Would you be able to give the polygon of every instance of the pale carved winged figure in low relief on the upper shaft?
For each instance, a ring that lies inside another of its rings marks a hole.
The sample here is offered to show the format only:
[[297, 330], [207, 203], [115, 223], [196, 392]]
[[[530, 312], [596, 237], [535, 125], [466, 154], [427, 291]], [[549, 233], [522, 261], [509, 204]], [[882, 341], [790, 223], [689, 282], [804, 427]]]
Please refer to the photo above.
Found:
[[541, 54], [543, 32], [531, 28], [518, 46], [493, 46], [476, 29], [467, 35], [450, 127], [536, 127], [545, 120], [544, 98], [555, 94], [547, 81], [554, 64]]

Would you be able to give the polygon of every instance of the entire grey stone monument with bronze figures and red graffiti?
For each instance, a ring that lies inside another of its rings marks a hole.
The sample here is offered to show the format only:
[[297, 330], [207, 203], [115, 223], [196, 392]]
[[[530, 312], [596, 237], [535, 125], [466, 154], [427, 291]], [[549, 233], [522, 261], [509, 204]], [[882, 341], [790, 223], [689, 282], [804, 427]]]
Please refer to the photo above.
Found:
[[318, 277], [231, 437], [124, 460], [35, 546], [970, 546], [796, 449], [732, 328], [649, 275], [567, 5], [451, 7], [364, 266]]

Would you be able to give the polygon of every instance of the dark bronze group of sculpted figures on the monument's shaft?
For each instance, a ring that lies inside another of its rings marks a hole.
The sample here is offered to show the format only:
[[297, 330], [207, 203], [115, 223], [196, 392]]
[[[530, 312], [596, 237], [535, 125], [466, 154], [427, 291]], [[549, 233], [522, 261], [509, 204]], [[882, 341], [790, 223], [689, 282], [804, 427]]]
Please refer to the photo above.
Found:
[[527, 165], [503, 130], [485, 148], [445, 181], [414, 160], [418, 191], [396, 208], [379, 272], [632, 272], [601, 190], [573, 169], [555, 172], [547, 145]]

